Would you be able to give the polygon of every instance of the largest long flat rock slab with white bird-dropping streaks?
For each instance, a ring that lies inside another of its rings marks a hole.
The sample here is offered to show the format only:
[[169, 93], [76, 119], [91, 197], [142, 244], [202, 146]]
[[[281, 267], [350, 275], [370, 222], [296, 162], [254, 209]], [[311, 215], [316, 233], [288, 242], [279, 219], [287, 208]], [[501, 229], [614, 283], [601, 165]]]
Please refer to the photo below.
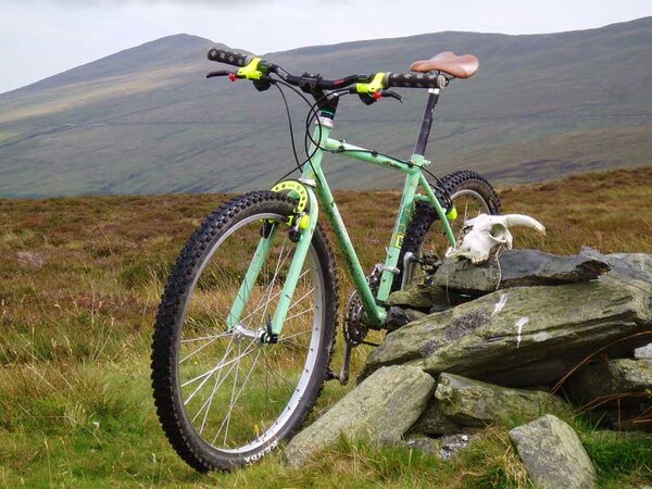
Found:
[[[652, 301], [618, 280], [517, 287], [428, 315], [387, 335], [361, 378], [406, 363], [432, 375], [460, 374], [492, 384], [553, 384], [587, 354], [652, 330]], [[648, 343], [639, 336], [606, 350], [612, 356]]]

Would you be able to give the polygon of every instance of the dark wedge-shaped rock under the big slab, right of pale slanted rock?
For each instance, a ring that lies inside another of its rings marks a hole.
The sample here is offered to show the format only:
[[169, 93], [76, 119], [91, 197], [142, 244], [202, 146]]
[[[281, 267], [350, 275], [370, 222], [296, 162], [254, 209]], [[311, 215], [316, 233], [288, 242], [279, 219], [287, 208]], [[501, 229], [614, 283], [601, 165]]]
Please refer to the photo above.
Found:
[[453, 374], [441, 374], [435, 402], [448, 419], [463, 427], [484, 428], [513, 414], [537, 417], [564, 402], [548, 392], [510, 389]]

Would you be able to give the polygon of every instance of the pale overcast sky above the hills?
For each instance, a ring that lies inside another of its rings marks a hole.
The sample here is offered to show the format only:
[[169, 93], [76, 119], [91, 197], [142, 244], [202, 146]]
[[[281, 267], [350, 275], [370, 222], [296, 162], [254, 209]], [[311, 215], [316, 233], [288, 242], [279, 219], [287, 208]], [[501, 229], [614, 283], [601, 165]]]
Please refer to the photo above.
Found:
[[652, 15], [652, 0], [0, 0], [0, 92], [187, 33], [265, 53], [440, 30], [599, 27]]

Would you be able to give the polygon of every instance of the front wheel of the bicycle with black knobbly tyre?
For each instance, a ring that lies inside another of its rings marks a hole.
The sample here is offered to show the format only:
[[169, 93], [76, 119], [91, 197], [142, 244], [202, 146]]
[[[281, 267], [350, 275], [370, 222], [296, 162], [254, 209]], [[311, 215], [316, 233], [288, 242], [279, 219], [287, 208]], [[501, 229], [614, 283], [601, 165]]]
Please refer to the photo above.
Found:
[[[301, 427], [324, 386], [337, 283], [318, 227], [278, 342], [261, 340], [296, 249], [286, 224], [294, 204], [271, 191], [227, 202], [192, 235], [165, 287], [152, 343], [154, 401], [172, 447], [198, 471], [260, 460]], [[261, 240], [267, 258], [242, 286]]]

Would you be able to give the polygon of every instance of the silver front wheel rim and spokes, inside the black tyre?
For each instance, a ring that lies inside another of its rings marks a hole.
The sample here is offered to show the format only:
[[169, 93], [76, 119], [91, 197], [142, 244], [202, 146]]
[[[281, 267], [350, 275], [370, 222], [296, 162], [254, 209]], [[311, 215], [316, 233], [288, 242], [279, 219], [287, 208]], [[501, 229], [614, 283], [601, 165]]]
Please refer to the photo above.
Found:
[[[261, 220], [276, 223], [268, 260], [241, 321], [226, 317], [260, 241]], [[255, 214], [229, 228], [209, 250], [183, 306], [177, 390], [195, 432], [228, 454], [255, 451], [278, 438], [310, 387], [322, 341], [324, 276], [311, 246], [277, 344], [260, 334], [274, 317], [294, 243], [285, 216]]]

